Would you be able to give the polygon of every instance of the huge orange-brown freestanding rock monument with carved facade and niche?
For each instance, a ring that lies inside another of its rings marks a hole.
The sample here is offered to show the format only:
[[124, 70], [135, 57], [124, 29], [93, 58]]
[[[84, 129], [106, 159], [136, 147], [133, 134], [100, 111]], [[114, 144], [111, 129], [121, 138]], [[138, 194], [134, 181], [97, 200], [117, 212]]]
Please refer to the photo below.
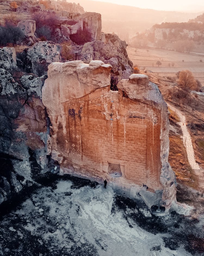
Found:
[[149, 207], [168, 209], [175, 175], [168, 164], [166, 103], [145, 75], [110, 90], [110, 70], [102, 61], [50, 64], [42, 87], [51, 120], [48, 152], [61, 174], [106, 178], [129, 197], [139, 192]]

